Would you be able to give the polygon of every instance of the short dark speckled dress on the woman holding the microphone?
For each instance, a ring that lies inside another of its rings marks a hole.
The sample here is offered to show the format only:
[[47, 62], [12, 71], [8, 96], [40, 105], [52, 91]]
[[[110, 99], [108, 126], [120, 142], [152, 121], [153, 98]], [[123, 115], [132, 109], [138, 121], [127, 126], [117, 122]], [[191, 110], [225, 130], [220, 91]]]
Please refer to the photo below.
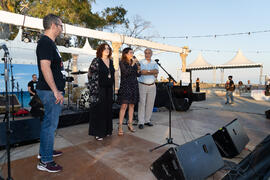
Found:
[[120, 104], [136, 104], [139, 101], [139, 86], [137, 77], [138, 73], [137, 64], [134, 66], [126, 62], [120, 62], [121, 82], [118, 91], [118, 102]]

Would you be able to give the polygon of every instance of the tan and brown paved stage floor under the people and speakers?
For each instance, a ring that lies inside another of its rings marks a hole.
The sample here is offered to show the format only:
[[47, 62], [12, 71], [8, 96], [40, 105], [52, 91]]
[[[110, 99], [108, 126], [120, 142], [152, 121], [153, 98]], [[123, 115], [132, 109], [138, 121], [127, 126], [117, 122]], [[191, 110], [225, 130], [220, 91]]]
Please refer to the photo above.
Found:
[[[234, 105], [225, 105], [225, 98], [207, 96], [203, 102], [194, 102], [187, 112], [172, 112], [172, 137], [177, 144], [189, 142], [217, 129], [234, 118], [243, 125], [250, 141], [246, 148], [253, 150], [270, 132], [270, 121], [264, 115], [269, 102], [257, 102], [252, 99], [235, 97]], [[11, 150], [11, 173], [16, 179], [131, 179], [154, 180], [150, 165], [159, 158], [169, 146], [154, 152], [149, 149], [166, 142], [168, 136], [168, 111], [160, 109], [153, 113], [153, 127], [137, 129], [130, 133], [124, 126], [124, 136], [117, 136], [117, 122], [114, 119], [114, 133], [104, 141], [96, 141], [88, 136], [88, 123], [63, 127], [57, 130], [55, 149], [61, 149], [63, 156], [55, 161], [63, 166], [60, 173], [40, 172], [36, 169], [36, 155], [39, 143], [20, 146]], [[229, 161], [238, 163], [249, 151], [245, 149], [240, 155]], [[0, 151], [0, 157], [4, 154]], [[3, 160], [1, 161], [3, 163]], [[6, 166], [2, 169], [6, 177]], [[207, 179], [218, 180], [226, 174], [219, 170]]]

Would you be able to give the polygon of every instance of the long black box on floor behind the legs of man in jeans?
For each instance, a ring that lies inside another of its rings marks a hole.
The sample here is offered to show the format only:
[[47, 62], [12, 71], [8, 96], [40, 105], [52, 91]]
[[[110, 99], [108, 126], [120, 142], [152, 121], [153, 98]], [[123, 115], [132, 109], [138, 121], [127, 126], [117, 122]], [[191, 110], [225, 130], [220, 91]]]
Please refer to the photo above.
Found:
[[[25, 119], [10, 121], [10, 144], [20, 145], [36, 141], [40, 137], [40, 120]], [[5, 148], [6, 145], [6, 123], [0, 123], [0, 148]]]

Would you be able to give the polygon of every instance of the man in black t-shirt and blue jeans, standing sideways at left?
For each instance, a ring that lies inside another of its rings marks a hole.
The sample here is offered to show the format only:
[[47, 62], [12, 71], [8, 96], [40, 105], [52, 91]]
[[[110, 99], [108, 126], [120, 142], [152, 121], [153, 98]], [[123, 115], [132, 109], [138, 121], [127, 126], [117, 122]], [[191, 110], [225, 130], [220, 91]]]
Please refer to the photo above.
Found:
[[62, 154], [54, 151], [54, 134], [58, 125], [63, 104], [65, 80], [61, 70], [63, 63], [61, 55], [55, 45], [55, 39], [63, 31], [61, 19], [49, 14], [43, 19], [44, 35], [38, 41], [36, 55], [39, 78], [37, 94], [44, 105], [44, 117], [40, 130], [40, 149], [37, 168], [41, 171], [59, 172], [63, 168], [56, 164], [53, 157]]

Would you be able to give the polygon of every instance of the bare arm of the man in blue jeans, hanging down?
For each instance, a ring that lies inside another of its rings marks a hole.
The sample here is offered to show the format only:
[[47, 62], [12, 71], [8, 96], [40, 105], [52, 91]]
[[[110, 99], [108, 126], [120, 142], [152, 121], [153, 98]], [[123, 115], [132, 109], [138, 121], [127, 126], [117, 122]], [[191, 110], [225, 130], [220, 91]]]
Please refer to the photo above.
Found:
[[61, 94], [61, 92], [58, 91], [55, 85], [54, 79], [53, 79], [53, 74], [51, 70], [51, 61], [47, 59], [42, 59], [40, 61], [40, 67], [41, 67], [41, 71], [42, 71], [42, 74], [46, 83], [49, 85], [49, 87], [53, 91], [53, 94], [56, 98], [55, 103], [58, 104], [60, 102], [61, 104], [63, 104], [64, 97]]

